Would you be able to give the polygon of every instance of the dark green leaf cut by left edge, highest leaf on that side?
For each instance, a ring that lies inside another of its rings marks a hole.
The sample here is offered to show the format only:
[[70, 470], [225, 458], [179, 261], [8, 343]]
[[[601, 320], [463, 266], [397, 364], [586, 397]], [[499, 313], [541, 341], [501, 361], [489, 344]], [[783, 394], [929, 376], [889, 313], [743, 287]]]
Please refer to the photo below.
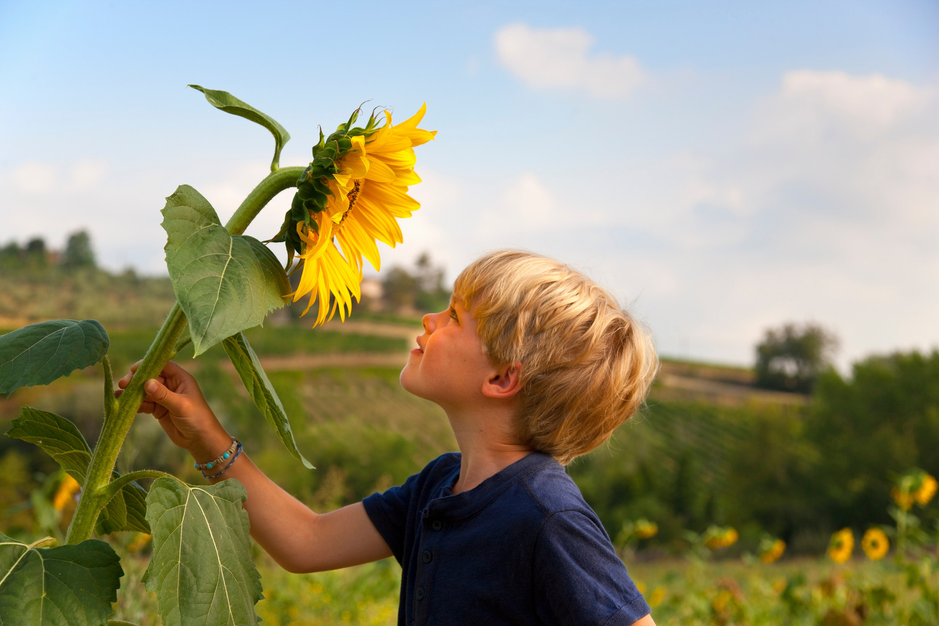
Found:
[[0, 335], [0, 393], [48, 385], [56, 378], [94, 365], [111, 341], [93, 319], [56, 319]]

